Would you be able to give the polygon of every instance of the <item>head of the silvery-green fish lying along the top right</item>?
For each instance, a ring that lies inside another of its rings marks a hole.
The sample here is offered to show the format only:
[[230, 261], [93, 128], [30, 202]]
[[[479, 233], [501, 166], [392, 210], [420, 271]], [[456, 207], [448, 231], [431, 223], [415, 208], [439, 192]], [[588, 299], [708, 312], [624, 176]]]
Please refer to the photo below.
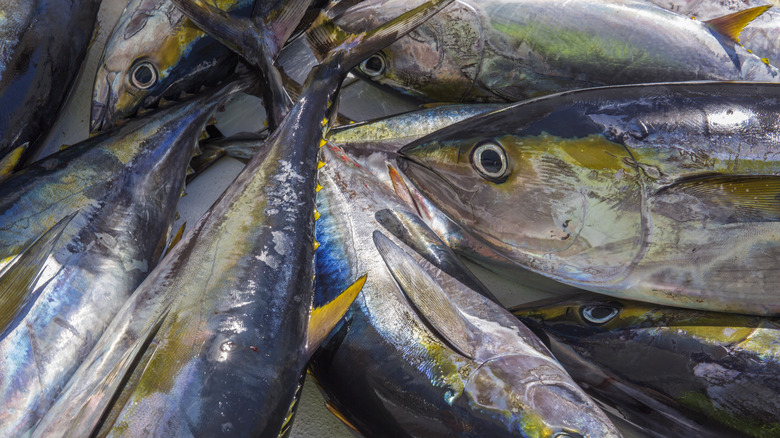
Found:
[[[376, 26], [403, 13], [408, 1], [368, 0], [336, 22], [349, 31]], [[408, 35], [373, 54], [355, 73], [404, 94], [440, 102], [458, 102], [474, 88], [483, 46], [474, 9], [454, 1]]]

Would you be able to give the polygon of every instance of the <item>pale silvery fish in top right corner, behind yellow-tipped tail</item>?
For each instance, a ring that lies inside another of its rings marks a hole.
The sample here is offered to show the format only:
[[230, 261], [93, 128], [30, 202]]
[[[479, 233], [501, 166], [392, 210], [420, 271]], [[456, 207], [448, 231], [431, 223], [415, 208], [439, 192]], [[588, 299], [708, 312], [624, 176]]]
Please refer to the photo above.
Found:
[[770, 4], [771, 9], [751, 21], [739, 35], [739, 43], [746, 49], [765, 58], [770, 64], [780, 65], [780, 11], [773, 1], [756, 0], [650, 0], [662, 8], [696, 17], [699, 20], [710, 20], [742, 11], [747, 8]]

